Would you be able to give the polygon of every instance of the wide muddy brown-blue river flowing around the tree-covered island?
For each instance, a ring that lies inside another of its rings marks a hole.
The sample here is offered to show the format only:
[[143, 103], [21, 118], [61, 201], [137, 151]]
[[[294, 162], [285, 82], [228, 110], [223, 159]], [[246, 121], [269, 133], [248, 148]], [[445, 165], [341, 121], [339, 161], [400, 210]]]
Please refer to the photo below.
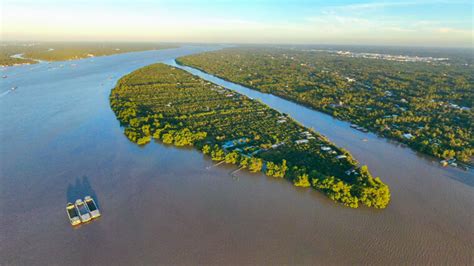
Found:
[[[109, 107], [116, 81], [219, 48], [1, 69], [0, 264], [473, 263], [472, 172], [278, 97], [184, 67], [348, 149], [390, 186], [387, 209], [346, 208], [284, 180], [206, 169], [193, 149], [129, 142]], [[103, 217], [72, 228], [65, 204], [88, 194]]]

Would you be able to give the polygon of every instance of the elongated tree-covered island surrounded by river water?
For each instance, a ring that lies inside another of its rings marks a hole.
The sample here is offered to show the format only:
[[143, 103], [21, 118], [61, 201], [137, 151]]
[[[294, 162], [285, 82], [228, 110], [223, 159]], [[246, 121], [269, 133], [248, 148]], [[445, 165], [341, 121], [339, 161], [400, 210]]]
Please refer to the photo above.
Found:
[[122, 77], [111, 108], [127, 138], [194, 146], [216, 164], [313, 187], [345, 206], [385, 208], [390, 190], [324, 136], [260, 101], [165, 64]]

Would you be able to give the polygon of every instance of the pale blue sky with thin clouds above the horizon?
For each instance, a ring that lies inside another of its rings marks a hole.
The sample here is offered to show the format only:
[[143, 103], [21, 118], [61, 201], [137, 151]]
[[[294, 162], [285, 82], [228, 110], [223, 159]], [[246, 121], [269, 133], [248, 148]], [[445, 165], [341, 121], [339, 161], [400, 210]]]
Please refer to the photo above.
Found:
[[0, 0], [0, 40], [473, 47], [471, 0]]

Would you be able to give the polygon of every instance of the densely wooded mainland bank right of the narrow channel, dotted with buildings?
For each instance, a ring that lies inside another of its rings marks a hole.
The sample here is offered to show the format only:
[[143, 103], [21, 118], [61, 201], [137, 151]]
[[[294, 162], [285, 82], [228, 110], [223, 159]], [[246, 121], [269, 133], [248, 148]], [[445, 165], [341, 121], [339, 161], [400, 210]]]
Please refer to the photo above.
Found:
[[443, 165], [472, 165], [470, 65], [278, 48], [227, 48], [176, 62], [349, 121]]

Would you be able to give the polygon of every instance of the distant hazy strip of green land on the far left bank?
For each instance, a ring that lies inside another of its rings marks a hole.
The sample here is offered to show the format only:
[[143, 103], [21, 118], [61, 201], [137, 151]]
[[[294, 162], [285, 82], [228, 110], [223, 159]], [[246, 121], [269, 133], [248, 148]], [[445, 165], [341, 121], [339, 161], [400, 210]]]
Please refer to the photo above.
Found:
[[[67, 61], [128, 52], [176, 48], [177, 45], [157, 43], [1, 43], [0, 66], [36, 64], [38, 61]], [[12, 57], [22, 54], [24, 58]]]

